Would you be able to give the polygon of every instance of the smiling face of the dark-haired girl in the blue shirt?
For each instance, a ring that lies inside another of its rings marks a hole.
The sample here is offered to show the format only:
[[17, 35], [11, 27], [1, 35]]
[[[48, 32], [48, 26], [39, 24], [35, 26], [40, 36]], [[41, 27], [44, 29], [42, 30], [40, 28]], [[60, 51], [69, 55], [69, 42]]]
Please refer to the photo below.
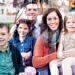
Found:
[[17, 31], [19, 37], [25, 37], [29, 33], [29, 28], [27, 24], [19, 24]]

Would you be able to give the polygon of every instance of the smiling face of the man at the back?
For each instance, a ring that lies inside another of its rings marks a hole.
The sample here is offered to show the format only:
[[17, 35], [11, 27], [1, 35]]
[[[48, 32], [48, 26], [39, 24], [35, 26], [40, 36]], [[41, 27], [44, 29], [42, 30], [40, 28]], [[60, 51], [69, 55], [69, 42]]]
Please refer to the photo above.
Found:
[[36, 20], [38, 15], [37, 4], [28, 4], [26, 6], [26, 15], [29, 20]]

